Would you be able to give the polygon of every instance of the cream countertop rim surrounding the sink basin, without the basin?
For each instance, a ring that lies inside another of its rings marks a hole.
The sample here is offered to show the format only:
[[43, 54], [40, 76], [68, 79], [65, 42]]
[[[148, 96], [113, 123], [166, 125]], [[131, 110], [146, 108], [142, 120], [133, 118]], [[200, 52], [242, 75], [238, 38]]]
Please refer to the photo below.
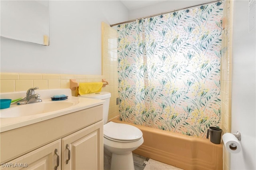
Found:
[[[35, 93], [37, 93], [37, 92], [40, 94], [40, 91], [35, 91]], [[22, 92], [22, 93], [24, 94], [24, 92]], [[41, 91], [41, 93], [42, 93], [42, 91]], [[47, 91], [47, 93], [48, 93], [48, 91]], [[40, 113], [40, 114], [36, 114], [36, 115], [0, 118], [0, 132], [4, 132], [4, 131], [7, 131], [7, 130], [12, 130], [14, 128], [24, 127], [24, 126], [27, 126], [27, 125], [31, 125], [33, 123], [38, 123], [38, 122], [41, 122], [41, 121], [45, 121], [45, 120], [48, 120], [48, 119], [52, 119], [52, 118], [55, 118], [55, 117], [59, 117], [59, 116], [62, 116], [62, 115], [73, 113], [73, 112], [76, 112], [76, 111], [81, 111], [81, 110], [84, 110], [84, 109], [88, 109], [90, 107], [95, 107], [95, 106], [98, 106], [98, 105], [102, 105], [105, 102], [104, 100], [87, 99], [87, 98], [82, 98], [82, 97], [72, 97], [71, 96], [71, 91], [70, 91], [70, 93], [69, 92], [61, 93], [61, 91], [56, 93], [56, 91], [55, 91], [55, 93], [53, 93], [53, 94], [69, 95], [68, 99], [66, 99], [64, 101], [72, 102], [72, 103], [74, 103], [74, 105], [72, 105], [72, 106], [70, 106], [66, 109], [60, 109], [60, 110], [57, 110], [57, 111], [51, 111], [51, 112], [47, 112], [47, 113]], [[1, 98], [2, 98], [2, 96], [4, 96], [4, 95], [1, 94]], [[49, 99], [49, 96], [53, 96], [53, 95], [48, 94], [46, 96], [42, 96], [42, 98], [41, 98], [43, 100], [42, 102], [48, 102], [48, 103], [49, 102], [61, 102], [61, 101], [51, 101], [51, 99]], [[12, 98], [10, 98], [10, 99], [12, 99]], [[26, 104], [26, 105], [31, 105], [32, 106], [33, 104], [37, 104], [37, 103], [30, 103], [30, 104]], [[11, 105], [11, 107], [7, 108], [7, 109], [12, 109], [13, 107], [20, 107], [20, 105]], [[0, 110], [0, 114], [1, 114], [1, 111], [2, 110]]]

